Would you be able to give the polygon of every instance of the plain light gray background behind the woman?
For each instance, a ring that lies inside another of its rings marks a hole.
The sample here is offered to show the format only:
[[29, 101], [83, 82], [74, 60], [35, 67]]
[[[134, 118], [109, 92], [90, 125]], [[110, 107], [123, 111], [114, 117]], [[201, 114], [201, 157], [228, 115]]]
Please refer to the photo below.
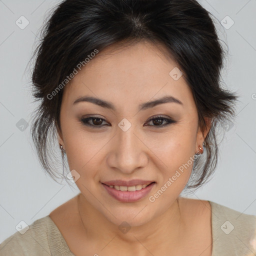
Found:
[[[31, 224], [79, 192], [75, 185], [71, 189], [64, 181], [58, 184], [44, 174], [32, 148], [30, 125], [24, 131], [16, 127], [21, 118], [31, 122], [36, 105], [25, 67], [45, 13], [58, 2], [0, 0], [0, 242], [17, 231], [15, 226], [21, 220]], [[256, 0], [199, 3], [219, 21], [226, 15], [234, 21], [229, 29], [221, 24], [217, 29], [229, 48], [223, 79], [241, 97], [236, 122], [219, 148], [214, 177], [184, 196], [256, 215]], [[24, 29], [15, 24], [21, 15], [29, 21]]]

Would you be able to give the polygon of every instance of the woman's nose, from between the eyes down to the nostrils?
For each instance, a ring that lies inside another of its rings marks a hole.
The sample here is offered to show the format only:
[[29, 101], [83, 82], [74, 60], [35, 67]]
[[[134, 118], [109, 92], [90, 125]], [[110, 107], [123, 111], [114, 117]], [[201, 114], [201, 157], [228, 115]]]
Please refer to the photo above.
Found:
[[126, 131], [118, 127], [107, 157], [107, 164], [123, 173], [132, 173], [146, 166], [148, 162], [146, 149], [143, 139], [132, 125]]

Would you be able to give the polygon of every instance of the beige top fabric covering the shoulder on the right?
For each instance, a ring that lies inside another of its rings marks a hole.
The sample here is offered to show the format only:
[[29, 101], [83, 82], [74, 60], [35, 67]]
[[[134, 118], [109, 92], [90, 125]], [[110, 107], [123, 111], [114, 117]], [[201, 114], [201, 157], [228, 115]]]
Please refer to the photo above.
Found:
[[226, 253], [254, 255], [256, 253], [256, 216], [239, 212], [213, 201], [209, 203], [214, 252], [212, 256], [226, 255]]

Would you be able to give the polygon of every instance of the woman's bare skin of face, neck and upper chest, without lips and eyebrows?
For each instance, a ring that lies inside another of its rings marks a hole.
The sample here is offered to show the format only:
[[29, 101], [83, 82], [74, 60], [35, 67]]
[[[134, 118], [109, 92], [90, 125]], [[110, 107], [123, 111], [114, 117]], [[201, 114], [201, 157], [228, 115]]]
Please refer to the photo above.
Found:
[[[177, 63], [164, 50], [146, 41], [121, 48], [111, 45], [64, 88], [59, 143], [69, 169], [80, 175], [75, 182], [80, 194], [50, 217], [76, 255], [211, 255], [209, 203], [179, 196], [192, 164], [154, 202], [149, 201], [199, 150], [210, 127], [204, 134], [198, 127], [192, 93], [183, 76], [174, 80], [169, 75]], [[109, 101], [116, 110], [91, 102], [73, 104], [85, 95]], [[139, 104], [165, 95], [182, 104], [168, 102], [138, 110]], [[149, 121], [158, 115], [175, 122], [164, 126], [164, 120], [162, 124]], [[100, 121], [94, 121], [95, 128], [80, 121], [88, 116], [102, 118], [102, 126], [96, 126]], [[123, 118], [131, 124], [126, 131], [118, 127]], [[136, 178], [156, 182], [136, 202], [114, 199], [101, 184]], [[118, 228], [123, 221], [131, 227], [127, 233]]]

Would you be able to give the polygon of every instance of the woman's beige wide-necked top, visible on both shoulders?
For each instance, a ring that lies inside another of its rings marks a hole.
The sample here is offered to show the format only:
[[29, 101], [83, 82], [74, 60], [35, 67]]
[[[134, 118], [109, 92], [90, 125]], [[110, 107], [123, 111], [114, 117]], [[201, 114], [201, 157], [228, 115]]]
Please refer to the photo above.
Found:
[[[256, 215], [211, 204], [212, 256], [254, 256]], [[74, 256], [49, 215], [35, 220], [24, 234], [18, 231], [0, 244], [1, 256]]]

